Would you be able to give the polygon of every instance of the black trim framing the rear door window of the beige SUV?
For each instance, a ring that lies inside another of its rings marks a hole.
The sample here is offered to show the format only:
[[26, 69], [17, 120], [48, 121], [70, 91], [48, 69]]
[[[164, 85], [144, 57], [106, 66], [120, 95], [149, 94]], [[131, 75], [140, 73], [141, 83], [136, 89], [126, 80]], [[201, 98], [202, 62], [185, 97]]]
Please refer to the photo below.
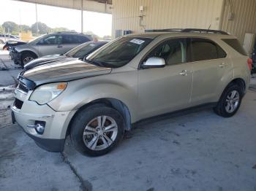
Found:
[[205, 37], [199, 37], [199, 36], [190, 36], [187, 38], [187, 46], [189, 47], [189, 50], [187, 51], [188, 52], [188, 55], [187, 55], [187, 62], [188, 63], [196, 63], [196, 62], [202, 62], [202, 61], [192, 61], [191, 59], [191, 55], [192, 55], [192, 48], [191, 48], [191, 40], [192, 39], [200, 39], [200, 40], [206, 40], [206, 42], [211, 42], [212, 44], [215, 44], [217, 46], [219, 46], [225, 53], [226, 53], [226, 57], [225, 58], [214, 58], [214, 59], [208, 59], [208, 60], [202, 60], [202, 61], [215, 61], [215, 60], [219, 60], [219, 59], [227, 59], [228, 58], [228, 53], [227, 51], [225, 50], [225, 48], [223, 48], [221, 45], [219, 45], [217, 42], [215, 42], [214, 40], [212, 39], [208, 39], [208, 38], [205, 38]]

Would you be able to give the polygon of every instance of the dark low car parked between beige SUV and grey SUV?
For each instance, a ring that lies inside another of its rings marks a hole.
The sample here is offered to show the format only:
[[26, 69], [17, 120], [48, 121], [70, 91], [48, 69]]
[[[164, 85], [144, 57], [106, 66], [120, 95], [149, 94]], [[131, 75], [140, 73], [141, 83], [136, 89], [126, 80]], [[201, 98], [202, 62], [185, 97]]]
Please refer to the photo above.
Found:
[[66, 61], [67, 59], [84, 59], [86, 58], [91, 52], [99, 49], [103, 45], [107, 44], [109, 41], [99, 41], [99, 42], [86, 42], [80, 44], [78, 47], [69, 50], [68, 52], [64, 53], [63, 55], [46, 55], [41, 58], [34, 59], [30, 61], [24, 66], [25, 70], [32, 69], [37, 66], [42, 66], [44, 64], [56, 63], [61, 61]]

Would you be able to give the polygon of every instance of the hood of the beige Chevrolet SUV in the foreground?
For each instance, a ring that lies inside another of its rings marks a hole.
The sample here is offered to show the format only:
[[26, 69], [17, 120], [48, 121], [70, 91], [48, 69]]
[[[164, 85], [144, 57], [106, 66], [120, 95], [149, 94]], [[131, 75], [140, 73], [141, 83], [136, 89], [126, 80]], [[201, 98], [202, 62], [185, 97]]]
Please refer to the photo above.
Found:
[[[75, 59], [75, 58], [73, 58]], [[56, 62], [24, 71], [22, 77], [41, 85], [50, 82], [67, 82], [75, 79], [110, 74], [111, 69], [95, 66], [80, 60]]]

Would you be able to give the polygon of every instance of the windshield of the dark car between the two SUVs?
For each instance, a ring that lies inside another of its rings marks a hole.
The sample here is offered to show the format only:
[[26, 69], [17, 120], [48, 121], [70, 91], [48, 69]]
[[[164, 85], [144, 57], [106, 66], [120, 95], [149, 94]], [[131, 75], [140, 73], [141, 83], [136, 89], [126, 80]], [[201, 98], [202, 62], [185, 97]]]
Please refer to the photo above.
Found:
[[73, 58], [83, 58], [84, 56], [89, 55], [89, 53], [93, 52], [94, 50], [97, 50], [99, 47], [102, 47], [103, 45], [103, 43], [99, 44], [96, 42], [86, 42], [78, 47], [73, 48], [72, 50], [69, 50], [65, 55]]

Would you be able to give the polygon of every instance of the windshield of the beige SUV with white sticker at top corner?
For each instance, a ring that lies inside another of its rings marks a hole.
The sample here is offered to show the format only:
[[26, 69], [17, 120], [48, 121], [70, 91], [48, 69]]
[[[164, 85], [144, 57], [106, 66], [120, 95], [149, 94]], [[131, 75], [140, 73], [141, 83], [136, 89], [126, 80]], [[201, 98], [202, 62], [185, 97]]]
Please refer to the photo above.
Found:
[[87, 58], [91, 63], [110, 68], [126, 65], [153, 39], [124, 36]]

